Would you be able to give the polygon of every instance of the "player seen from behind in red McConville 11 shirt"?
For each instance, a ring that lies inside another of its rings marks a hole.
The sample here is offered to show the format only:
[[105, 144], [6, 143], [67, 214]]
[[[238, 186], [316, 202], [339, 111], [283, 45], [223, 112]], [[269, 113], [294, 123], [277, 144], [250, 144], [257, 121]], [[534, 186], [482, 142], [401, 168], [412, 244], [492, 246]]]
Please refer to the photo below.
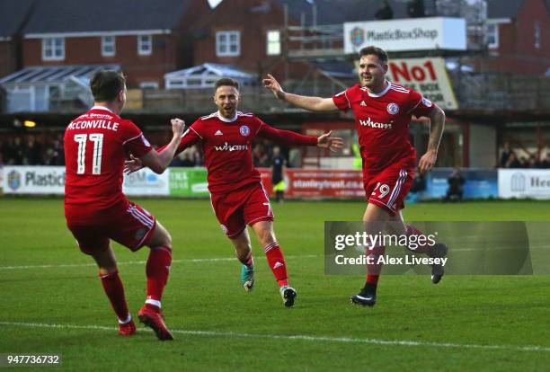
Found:
[[161, 297], [172, 262], [172, 241], [166, 229], [144, 208], [122, 193], [124, 161], [137, 156], [155, 173], [163, 173], [180, 143], [185, 123], [172, 120], [173, 138], [160, 154], [130, 120], [120, 118], [126, 83], [116, 71], [102, 70], [90, 81], [95, 104], [65, 131], [65, 216], [80, 250], [93, 257], [111, 306], [119, 317], [119, 333], [136, 326], [129, 314], [124, 287], [110, 240], [137, 251], [150, 248], [146, 263], [146, 304], [137, 313], [160, 340], [173, 340], [161, 313]]

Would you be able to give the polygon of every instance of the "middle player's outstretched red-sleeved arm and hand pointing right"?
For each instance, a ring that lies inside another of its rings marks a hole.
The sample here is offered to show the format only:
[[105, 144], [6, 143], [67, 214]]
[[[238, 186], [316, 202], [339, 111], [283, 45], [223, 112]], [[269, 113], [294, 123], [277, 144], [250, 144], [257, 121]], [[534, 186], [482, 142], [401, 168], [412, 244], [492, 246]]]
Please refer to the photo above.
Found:
[[270, 139], [282, 145], [288, 146], [317, 146], [328, 148], [336, 152], [343, 146], [343, 139], [340, 137], [330, 137], [333, 131], [325, 133], [322, 136], [304, 136], [296, 132], [284, 129], [271, 128], [269, 125], [262, 123], [262, 127], [258, 131], [258, 137]]

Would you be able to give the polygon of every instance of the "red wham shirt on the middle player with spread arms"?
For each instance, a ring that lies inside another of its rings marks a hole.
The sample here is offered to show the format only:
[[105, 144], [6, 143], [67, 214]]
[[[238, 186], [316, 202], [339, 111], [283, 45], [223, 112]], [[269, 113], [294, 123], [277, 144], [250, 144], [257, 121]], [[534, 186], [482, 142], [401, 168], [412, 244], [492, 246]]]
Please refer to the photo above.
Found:
[[252, 113], [237, 111], [235, 118], [228, 120], [214, 112], [196, 120], [183, 134], [177, 154], [200, 142], [208, 170], [208, 190], [229, 192], [261, 180], [252, 160], [254, 137], [288, 146], [317, 145], [317, 137], [271, 128]]

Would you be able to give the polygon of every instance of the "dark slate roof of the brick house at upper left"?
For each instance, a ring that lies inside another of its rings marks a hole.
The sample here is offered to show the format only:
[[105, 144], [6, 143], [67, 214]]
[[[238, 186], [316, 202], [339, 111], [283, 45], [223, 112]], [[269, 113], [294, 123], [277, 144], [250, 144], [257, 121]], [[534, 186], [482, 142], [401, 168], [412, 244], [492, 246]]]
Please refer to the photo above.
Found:
[[190, 4], [183, 0], [36, 0], [24, 32], [172, 30]]

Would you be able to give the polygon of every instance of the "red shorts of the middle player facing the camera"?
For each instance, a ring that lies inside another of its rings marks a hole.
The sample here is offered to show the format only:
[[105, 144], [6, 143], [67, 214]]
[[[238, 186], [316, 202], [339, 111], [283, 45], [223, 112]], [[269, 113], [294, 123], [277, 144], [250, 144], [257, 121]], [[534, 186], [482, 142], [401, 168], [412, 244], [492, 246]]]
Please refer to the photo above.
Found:
[[246, 225], [272, 221], [270, 199], [260, 182], [223, 194], [211, 194], [212, 208], [227, 237], [241, 234]]

